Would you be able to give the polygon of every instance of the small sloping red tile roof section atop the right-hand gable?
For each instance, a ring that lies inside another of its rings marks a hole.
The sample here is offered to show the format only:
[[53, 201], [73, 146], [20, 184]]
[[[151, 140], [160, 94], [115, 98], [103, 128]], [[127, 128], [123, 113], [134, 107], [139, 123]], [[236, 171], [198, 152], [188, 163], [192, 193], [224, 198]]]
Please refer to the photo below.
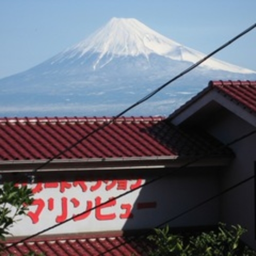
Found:
[[256, 112], [256, 81], [211, 81], [209, 87]]

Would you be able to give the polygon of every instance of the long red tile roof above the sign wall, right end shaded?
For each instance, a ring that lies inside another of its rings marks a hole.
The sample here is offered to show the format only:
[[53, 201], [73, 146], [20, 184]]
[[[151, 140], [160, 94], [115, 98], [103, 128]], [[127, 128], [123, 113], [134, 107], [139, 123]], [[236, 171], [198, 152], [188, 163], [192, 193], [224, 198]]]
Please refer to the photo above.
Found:
[[[0, 160], [50, 159], [110, 120], [1, 118]], [[121, 117], [57, 158], [197, 156], [216, 145], [209, 136], [178, 130], [162, 117]]]

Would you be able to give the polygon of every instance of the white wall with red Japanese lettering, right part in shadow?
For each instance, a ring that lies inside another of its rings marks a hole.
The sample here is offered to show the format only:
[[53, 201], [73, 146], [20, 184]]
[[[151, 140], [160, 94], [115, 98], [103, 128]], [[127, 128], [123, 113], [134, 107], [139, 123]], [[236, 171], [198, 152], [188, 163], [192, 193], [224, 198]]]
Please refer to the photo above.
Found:
[[[159, 170], [154, 171], [159, 173]], [[193, 167], [177, 170], [175, 174], [129, 193], [117, 199], [113, 205], [102, 207], [98, 213], [93, 210], [77, 221], [71, 220], [59, 225], [61, 221], [83, 212], [86, 207], [94, 207], [96, 200], [98, 203], [103, 203], [108, 198], [130, 191], [131, 185], [141, 185], [156, 177], [151, 174], [135, 178], [133, 175], [133, 178], [129, 179], [127, 172], [125, 176], [121, 172], [118, 178], [111, 178], [105, 173], [105, 176], [102, 175], [98, 180], [88, 179], [86, 175], [84, 179], [80, 177], [76, 180], [70, 173], [62, 187], [60, 181], [64, 181], [63, 176], [55, 174], [54, 182], [44, 180], [48, 182], [47, 185], [44, 182], [33, 184], [36, 201], [30, 207], [30, 217], [14, 225], [11, 233], [14, 236], [33, 235], [54, 225], [58, 226], [42, 234], [148, 229], [155, 228], [174, 217], [175, 220], [170, 223], [172, 227], [215, 225], [218, 222], [220, 213], [218, 199], [176, 218], [177, 215], [218, 193], [217, 169]], [[124, 180], [128, 180], [126, 187], [123, 183], [118, 185], [117, 181]], [[82, 187], [74, 181], [84, 181], [86, 191], [82, 191]], [[37, 182], [40, 182], [40, 178], [37, 178]], [[129, 205], [132, 206], [131, 209]], [[132, 217], [126, 215], [129, 212]]]

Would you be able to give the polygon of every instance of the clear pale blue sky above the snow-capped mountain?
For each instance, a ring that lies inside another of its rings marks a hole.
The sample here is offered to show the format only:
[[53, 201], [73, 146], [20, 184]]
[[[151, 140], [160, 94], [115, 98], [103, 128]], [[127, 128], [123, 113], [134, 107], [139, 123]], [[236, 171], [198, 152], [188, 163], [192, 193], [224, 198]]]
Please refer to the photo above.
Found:
[[[255, 0], [2, 0], [0, 78], [40, 64], [114, 16], [209, 53], [256, 23], [255, 10]], [[256, 70], [256, 29], [215, 58]]]

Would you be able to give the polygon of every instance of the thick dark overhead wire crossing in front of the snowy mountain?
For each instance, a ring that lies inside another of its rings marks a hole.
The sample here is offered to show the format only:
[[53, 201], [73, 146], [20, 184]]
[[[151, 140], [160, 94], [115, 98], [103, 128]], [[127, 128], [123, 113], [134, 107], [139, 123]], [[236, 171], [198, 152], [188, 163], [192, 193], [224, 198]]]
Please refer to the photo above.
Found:
[[229, 40], [228, 42], [226, 42], [225, 44], [223, 44], [221, 47], [218, 47], [216, 50], [212, 51], [211, 53], [209, 53], [206, 57], [204, 57], [203, 59], [200, 59], [198, 62], [196, 62], [195, 64], [191, 65], [190, 67], [188, 67], [187, 69], [185, 69], [184, 71], [182, 71], [179, 75], [175, 76], [174, 78], [172, 78], [171, 80], [169, 80], [168, 82], [164, 83], [163, 85], [159, 86], [158, 88], [156, 88], [155, 90], [153, 90], [153, 92], [149, 93], [148, 95], [144, 96], [142, 99], [140, 99], [139, 101], [137, 101], [136, 103], [132, 104], [131, 106], [127, 107], [126, 109], [124, 109], [124, 111], [120, 112], [119, 114], [117, 114], [116, 116], [114, 116], [111, 120], [109, 120], [108, 122], [102, 124], [101, 126], [99, 126], [97, 129], [93, 130], [92, 132], [88, 133], [86, 136], [82, 137], [81, 139], [77, 140], [74, 144], [70, 145], [69, 147], [67, 147], [66, 149], [64, 149], [63, 151], [60, 151], [58, 154], [54, 155], [53, 157], [49, 158], [47, 161], [45, 161], [43, 164], [41, 164], [38, 168], [35, 168], [32, 172], [36, 172], [42, 168], [44, 168], [45, 166], [47, 166], [51, 161], [53, 161], [54, 159], [60, 157], [61, 155], [65, 154], [66, 152], [70, 151], [72, 148], [76, 147], [76, 145], [80, 144], [83, 140], [87, 139], [88, 137], [92, 136], [93, 134], [97, 133], [98, 131], [104, 129], [106, 126], [108, 126], [109, 124], [113, 123], [116, 119], [118, 119], [119, 117], [123, 116], [125, 113], [127, 113], [128, 111], [130, 111], [132, 108], [142, 104], [143, 102], [149, 100], [151, 97], [153, 97], [155, 94], [157, 94], [158, 92], [160, 92], [160, 90], [162, 90], [163, 88], [165, 88], [166, 86], [168, 86], [170, 83], [174, 82], [175, 80], [179, 79], [180, 77], [186, 75], [188, 72], [190, 72], [191, 70], [193, 70], [194, 68], [196, 68], [197, 66], [199, 66], [200, 64], [202, 64], [203, 62], [205, 62], [207, 59], [209, 59], [210, 57], [212, 57], [214, 54], [216, 54], [217, 52], [223, 50], [224, 48], [226, 48], [228, 45], [232, 44], [234, 41], [236, 41], [237, 39], [241, 38], [243, 35], [245, 35], [246, 33], [250, 32], [252, 29], [254, 29], [256, 27], [256, 23], [253, 24], [252, 26], [250, 26], [249, 28], [247, 28], [246, 30], [244, 30], [243, 32], [241, 32], [240, 34], [234, 36], [233, 39]]

